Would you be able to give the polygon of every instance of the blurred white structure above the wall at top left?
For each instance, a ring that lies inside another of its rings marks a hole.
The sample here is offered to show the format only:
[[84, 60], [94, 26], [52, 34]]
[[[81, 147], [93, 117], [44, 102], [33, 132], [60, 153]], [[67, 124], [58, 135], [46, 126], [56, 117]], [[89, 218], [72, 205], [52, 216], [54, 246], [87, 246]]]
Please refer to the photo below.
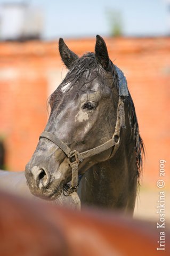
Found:
[[40, 38], [43, 31], [42, 10], [25, 3], [0, 5], [0, 40]]

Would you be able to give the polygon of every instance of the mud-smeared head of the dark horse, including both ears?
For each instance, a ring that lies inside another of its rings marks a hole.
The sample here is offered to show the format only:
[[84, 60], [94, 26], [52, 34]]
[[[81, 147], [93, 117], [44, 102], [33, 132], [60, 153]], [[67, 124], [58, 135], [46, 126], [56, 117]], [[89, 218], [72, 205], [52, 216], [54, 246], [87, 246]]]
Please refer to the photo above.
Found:
[[[31, 193], [47, 199], [62, 193], [74, 164], [78, 164], [78, 175], [84, 174], [112, 156], [116, 143], [121, 143], [120, 127], [125, 126], [118, 107], [124, 93], [128, 94], [127, 88], [120, 92], [120, 70], [109, 59], [100, 36], [96, 36], [94, 53], [79, 58], [62, 38], [59, 51], [68, 73], [50, 97], [51, 114], [25, 172]], [[106, 142], [115, 144], [109, 147]], [[76, 153], [70, 155], [69, 149]]]

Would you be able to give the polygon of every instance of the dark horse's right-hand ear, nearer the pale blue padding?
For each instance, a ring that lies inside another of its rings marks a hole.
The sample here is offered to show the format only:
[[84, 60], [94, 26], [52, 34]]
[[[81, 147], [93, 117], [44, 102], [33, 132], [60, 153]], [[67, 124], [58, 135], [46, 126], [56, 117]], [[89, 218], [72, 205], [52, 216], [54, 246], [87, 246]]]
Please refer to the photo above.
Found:
[[112, 72], [111, 61], [109, 59], [106, 43], [99, 35], [96, 35], [95, 58], [102, 68], [104, 68], [106, 71]]

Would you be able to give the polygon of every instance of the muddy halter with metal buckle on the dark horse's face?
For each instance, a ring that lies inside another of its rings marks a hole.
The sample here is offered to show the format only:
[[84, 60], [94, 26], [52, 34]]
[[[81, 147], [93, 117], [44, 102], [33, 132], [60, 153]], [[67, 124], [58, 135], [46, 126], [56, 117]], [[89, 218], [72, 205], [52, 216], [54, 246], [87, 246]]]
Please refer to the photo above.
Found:
[[[71, 167], [72, 171], [72, 178], [71, 178], [71, 186], [68, 188], [68, 195], [73, 193], [74, 191], [77, 191], [78, 187], [78, 165], [80, 162], [83, 162], [83, 159], [87, 157], [91, 157], [97, 154], [102, 153], [103, 151], [112, 148], [112, 153], [109, 156], [111, 158], [112, 156], [115, 155], [118, 146], [119, 146], [119, 141], [120, 141], [120, 128], [121, 127], [126, 127], [125, 126], [125, 111], [124, 111], [124, 100], [121, 96], [119, 96], [119, 101], [118, 101], [118, 107], [117, 107], [117, 120], [116, 120], [116, 126], [115, 126], [115, 132], [114, 135], [110, 140], [107, 142], [103, 143], [102, 145], [86, 150], [82, 153], [79, 153], [76, 150], [71, 150], [66, 143], [61, 141], [59, 138], [57, 138], [54, 134], [44, 131], [40, 135], [39, 139], [41, 138], [46, 138], [50, 141], [52, 141], [56, 146], [58, 146], [64, 154], [66, 154], [68, 158], [68, 164]], [[108, 159], [109, 159], [108, 158]]]

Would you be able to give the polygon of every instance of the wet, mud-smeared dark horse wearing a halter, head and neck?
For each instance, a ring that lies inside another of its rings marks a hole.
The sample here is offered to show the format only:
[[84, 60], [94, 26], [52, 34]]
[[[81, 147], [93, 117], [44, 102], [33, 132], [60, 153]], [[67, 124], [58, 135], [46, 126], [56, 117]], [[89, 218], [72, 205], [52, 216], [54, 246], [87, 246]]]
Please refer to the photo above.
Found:
[[30, 191], [53, 200], [75, 191], [79, 177], [83, 204], [133, 213], [144, 150], [126, 78], [100, 36], [95, 53], [79, 58], [62, 38], [59, 51], [69, 71], [26, 165]]

